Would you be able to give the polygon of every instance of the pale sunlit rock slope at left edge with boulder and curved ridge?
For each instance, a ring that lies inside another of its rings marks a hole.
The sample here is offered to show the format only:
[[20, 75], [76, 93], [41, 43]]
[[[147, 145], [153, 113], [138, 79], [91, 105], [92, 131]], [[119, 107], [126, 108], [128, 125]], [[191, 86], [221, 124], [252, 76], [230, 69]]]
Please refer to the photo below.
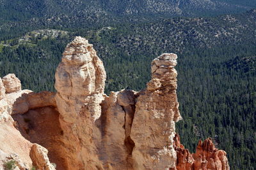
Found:
[[[20, 125], [13, 120], [13, 117], [23, 115], [32, 108], [54, 105], [52, 101], [54, 93], [21, 90], [20, 80], [14, 74], [8, 74], [0, 80], [2, 96], [0, 98], [0, 169], [10, 161], [14, 162], [15, 169], [31, 169], [33, 165], [37, 165], [33, 158], [38, 157], [38, 154], [33, 152], [33, 143], [24, 138], [19, 129]], [[47, 149], [42, 146], [40, 148], [44, 150], [42, 154], [47, 160]], [[48, 160], [44, 168], [40, 169], [55, 168]]]

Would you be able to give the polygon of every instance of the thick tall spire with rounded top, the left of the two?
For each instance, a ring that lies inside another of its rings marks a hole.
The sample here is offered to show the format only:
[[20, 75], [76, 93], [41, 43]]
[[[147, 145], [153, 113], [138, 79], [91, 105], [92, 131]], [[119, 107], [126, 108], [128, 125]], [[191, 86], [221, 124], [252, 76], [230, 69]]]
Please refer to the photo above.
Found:
[[105, 96], [102, 61], [86, 39], [76, 37], [65, 48], [55, 77], [67, 169], [102, 168], [96, 148], [101, 139], [96, 120]]

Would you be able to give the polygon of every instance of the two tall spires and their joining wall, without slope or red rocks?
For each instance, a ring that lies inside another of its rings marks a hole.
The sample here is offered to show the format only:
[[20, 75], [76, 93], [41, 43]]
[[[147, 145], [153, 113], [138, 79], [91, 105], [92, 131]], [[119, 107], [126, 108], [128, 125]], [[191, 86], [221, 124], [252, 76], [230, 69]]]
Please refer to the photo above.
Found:
[[81, 37], [67, 45], [55, 83], [67, 169], [175, 166], [176, 59], [173, 53], [157, 57], [152, 80], [140, 94], [122, 90], [108, 97], [103, 94], [106, 73], [92, 45]]

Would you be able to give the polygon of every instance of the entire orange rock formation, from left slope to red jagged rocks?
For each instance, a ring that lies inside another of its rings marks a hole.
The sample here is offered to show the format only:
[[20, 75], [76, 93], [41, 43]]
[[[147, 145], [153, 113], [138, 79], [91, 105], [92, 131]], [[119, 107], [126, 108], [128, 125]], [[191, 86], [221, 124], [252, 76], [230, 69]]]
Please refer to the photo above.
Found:
[[61, 170], [228, 169], [210, 139], [191, 154], [175, 137], [176, 64], [177, 55], [163, 53], [147, 89], [107, 96], [102, 61], [76, 37], [56, 70], [56, 93], [21, 90], [14, 74], [0, 78], [0, 169], [8, 160], [19, 169], [55, 169], [50, 161]]

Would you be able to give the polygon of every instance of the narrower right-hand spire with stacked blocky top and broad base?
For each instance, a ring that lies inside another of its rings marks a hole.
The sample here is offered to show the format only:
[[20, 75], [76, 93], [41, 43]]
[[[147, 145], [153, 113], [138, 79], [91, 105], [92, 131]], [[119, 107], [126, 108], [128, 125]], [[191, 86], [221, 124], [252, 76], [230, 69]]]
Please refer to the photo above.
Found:
[[[163, 53], [152, 61], [152, 80], [136, 103], [131, 139], [135, 169], [168, 169], [175, 166], [175, 122], [181, 117], [177, 101], [177, 55]], [[141, 131], [143, 129], [143, 131]]]

